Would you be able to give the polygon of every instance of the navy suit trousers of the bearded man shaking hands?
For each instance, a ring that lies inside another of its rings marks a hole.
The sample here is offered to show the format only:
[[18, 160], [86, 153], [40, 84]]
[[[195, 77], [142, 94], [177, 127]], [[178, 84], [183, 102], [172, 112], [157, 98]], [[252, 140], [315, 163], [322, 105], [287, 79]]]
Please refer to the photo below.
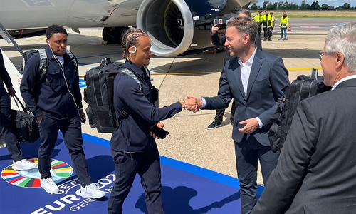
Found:
[[236, 169], [240, 182], [241, 214], [251, 213], [256, 204], [257, 170], [260, 161], [263, 183], [277, 166], [279, 153], [273, 153], [270, 146], [263, 146], [254, 136], [246, 135], [241, 143], [235, 142]]

